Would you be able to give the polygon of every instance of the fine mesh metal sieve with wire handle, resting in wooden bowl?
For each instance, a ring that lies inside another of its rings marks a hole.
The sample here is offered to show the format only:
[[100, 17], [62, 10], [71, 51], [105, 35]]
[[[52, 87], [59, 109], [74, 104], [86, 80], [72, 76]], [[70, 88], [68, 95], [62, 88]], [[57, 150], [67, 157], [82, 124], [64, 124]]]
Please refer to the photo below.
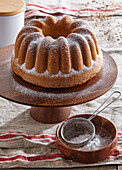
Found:
[[[114, 97], [115, 94], [117, 96]], [[65, 143], [71, 147], [81, 147], [91, 141], [95, 137], [95, 126], [91, 120], [120, 96], [119, 91], [113, 92], [88, 119], [75, 117], [65, 121], [61, 127], [61, 137]]]

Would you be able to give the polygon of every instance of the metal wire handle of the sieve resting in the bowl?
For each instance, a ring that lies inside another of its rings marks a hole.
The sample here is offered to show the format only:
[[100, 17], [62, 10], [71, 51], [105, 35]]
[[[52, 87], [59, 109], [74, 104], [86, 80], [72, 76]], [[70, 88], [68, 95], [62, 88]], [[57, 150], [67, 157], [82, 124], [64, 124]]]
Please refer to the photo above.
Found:
[[[112, 96], [114, 96], [114, 94], [117, 94], [117, 93], [118, 93], [118, 96], [115, 97], [111, 102], [109, 102], [105, 107], [103, 107], [103, 108], [101, 109], [101, 107], [102, 107], [107, 101], [109, 101], [109, 99], [110, 99]], [[96, 115], [98, 115], [101, 111], [103, 111], [105, 108], [107, 108], [111, 103], [113, 103], [115, 100], [117, 100], [120, 96], [121, 96], [121, 92], [119, 92], [119, 91], [113, 92], [113, 93], [103, 102], [103, 104], [101, 104], [101, 106], [98, 107], [98, 109], [92, 114], [92, 116], [90, 116], [90, 117], [88, 118], [88, 120], [92, 120]], [[100, 109], [100, 110], [99, 110], [99, 109]]]

